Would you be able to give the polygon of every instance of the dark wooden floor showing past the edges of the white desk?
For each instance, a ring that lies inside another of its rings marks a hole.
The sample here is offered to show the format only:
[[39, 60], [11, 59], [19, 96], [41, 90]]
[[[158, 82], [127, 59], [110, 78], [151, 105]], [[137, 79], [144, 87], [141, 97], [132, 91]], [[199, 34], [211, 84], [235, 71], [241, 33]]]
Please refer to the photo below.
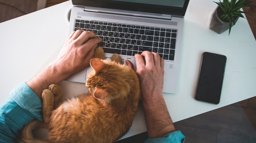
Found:
[[[47, 7], [66, 0], [48, 0]], [[256, 1], [244, 8], [256, 38]], [[256, 143], [256, 97], [174, 123], [186, 143]], [[117, 141], [144, 143], [147, 133]]]

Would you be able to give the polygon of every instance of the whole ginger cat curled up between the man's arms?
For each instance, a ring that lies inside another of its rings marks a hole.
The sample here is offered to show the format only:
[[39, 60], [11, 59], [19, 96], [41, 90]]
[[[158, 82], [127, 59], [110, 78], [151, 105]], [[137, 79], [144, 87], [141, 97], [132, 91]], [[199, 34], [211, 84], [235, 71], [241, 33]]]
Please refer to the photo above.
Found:
[[[52, 84], [43, 91], [42, 111], [49, 134], [48, 141], [42, 142], [113, 143], [130, 129], [140, 100], [136, 72], [123, 65], [118, 54], [111, 61], [103, 60], [101, 47], [96, 48], [94, 58], [98, 59], [90, 61], [93, 70], [86, 81], [89, 96], [72, 98], [58, 106], [60, 86]], [[33, 122], [24, 127], [21, 142], [39, 142], [31, 135], [36, 126]]]

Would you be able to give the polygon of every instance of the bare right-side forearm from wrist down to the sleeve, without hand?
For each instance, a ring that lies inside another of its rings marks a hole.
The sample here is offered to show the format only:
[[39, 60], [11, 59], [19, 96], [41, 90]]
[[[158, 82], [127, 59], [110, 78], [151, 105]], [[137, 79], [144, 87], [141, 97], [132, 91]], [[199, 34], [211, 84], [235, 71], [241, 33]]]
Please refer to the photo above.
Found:
[[[150, 138], [163, 137], [175, 131], [163, 96], [156, 96], [152, 100], [142, 100], [148, 136]], [[151, 102], [150, 102], [151, 101]], [[152, 102], [154, 101], [154, 102]]]

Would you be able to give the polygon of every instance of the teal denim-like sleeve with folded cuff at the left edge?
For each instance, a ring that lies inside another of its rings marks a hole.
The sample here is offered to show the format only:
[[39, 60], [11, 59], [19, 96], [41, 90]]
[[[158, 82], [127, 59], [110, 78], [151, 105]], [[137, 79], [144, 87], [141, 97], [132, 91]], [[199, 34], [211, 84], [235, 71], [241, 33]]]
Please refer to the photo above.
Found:
[[41, 112], [42, 102], [26, 82], [14, 88], [0, 108], [0, 142], [13, 143], [29, 121], [42, 121]]

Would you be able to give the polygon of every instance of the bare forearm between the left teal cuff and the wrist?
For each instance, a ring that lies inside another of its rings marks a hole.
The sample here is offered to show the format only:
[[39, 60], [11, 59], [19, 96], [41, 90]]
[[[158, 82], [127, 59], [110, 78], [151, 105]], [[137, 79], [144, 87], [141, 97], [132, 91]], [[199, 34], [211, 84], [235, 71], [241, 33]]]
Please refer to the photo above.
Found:
[[42, 99], [42, 91], [47, 89], [50, 84], [60, 84], [70, 74], [61, 71], [58, 64], [50, 63], [39, 74], [28, 82], [28, 86]]

